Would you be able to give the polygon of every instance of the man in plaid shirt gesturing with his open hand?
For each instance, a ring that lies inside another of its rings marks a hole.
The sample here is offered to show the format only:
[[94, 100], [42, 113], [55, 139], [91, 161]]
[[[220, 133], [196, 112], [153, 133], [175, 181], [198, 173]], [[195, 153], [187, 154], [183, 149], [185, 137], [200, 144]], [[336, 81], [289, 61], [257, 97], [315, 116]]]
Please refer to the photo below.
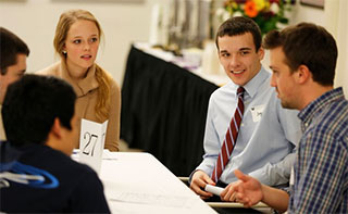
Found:
[[235, 171], [240, 182], [223, 192], [246, 206], [263, 201], [288, 213], [348, 213], [348, 101], [334, 88], [337, 46], [325, 28], [300, 23], [264, 39], [271, 86], [282, 105], [300, 110], [303, 136], [289, 194]]

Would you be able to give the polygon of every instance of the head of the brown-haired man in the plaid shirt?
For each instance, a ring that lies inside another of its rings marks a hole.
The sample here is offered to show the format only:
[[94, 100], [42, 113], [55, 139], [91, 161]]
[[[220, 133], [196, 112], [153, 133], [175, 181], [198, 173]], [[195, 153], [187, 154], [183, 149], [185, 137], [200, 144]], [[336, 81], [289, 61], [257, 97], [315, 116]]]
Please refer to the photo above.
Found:
[[273, 30], [264, 38], [263, 47], [270, 49], [271, 86], [283, 108], [302, 110], [333, 89], [337, 46], [323, 27], [300, 23]]

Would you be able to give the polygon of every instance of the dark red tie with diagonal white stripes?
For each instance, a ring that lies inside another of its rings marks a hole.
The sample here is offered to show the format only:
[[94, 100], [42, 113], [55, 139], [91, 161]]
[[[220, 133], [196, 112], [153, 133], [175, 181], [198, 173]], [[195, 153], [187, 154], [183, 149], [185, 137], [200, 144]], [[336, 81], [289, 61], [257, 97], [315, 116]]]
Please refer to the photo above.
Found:
[[231, 154], [237, 141], [238, 130], [239, 130], [239, 126], [240, 126], [240, 122], [244, 113], [244, 103], [243, 103], [244, 91], [245, 89], [243, 87], [239, 87], [237, 89], [238, 104], [237, 104], [235, 114], [231, 119], [229, 127], [226, 131], [224, 142], [222, 143], [222, 147], [220, 149], [220, 153], [217, 156], [214, 171], [211, 175], [211, 178], [214, 182], [217, 182], [222, 172], [224, 171], [226, 164], [228, 163], [228, 160], [231, 158]]

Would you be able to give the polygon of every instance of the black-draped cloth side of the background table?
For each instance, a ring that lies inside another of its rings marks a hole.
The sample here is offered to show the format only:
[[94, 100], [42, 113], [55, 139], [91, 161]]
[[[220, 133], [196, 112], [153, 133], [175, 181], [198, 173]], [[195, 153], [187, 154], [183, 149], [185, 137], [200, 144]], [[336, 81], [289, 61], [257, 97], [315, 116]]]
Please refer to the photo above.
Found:
[[202, 161], [210, 95], [217, 86], [132, 46], [122, 86], [121, 138], [176, 176]]

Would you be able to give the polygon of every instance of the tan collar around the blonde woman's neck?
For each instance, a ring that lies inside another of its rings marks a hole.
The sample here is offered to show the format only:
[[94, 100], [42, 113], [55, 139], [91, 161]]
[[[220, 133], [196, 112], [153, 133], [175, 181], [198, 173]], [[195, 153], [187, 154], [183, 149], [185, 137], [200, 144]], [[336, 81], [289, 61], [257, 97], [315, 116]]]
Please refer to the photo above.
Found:
[[59, 75], [73, 86], [77, 97], [85, 96], [89, 91], [99, 87], [99, 84], [96, 79], [96, 66], [97, 66], [96, 63], [88, 68], [87, 76], [78, 81], [75, 81], [70, 76], [65, 62], [62, 61], [62, 63], [60, 64], [61, 65], [60, 65]]

